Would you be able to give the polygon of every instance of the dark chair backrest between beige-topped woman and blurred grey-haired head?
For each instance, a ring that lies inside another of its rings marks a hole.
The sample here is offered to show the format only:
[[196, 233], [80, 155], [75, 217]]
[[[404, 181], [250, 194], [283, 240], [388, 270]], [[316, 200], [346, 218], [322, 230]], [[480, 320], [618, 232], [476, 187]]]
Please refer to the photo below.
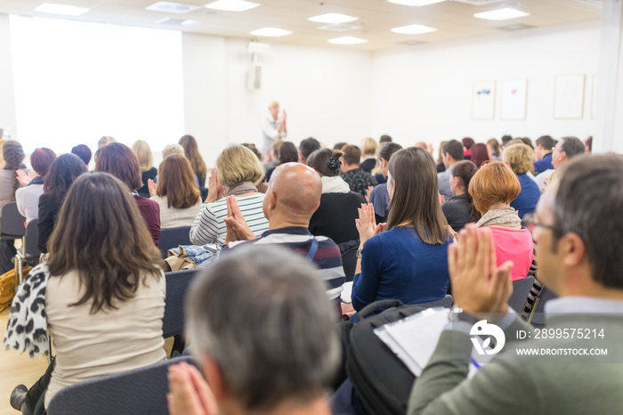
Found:
[[184, 331], [184, 300], [190, 283], [203, 268], [165, 273], [165, 316], [162, 319], [162, 336], [170, 338]]

